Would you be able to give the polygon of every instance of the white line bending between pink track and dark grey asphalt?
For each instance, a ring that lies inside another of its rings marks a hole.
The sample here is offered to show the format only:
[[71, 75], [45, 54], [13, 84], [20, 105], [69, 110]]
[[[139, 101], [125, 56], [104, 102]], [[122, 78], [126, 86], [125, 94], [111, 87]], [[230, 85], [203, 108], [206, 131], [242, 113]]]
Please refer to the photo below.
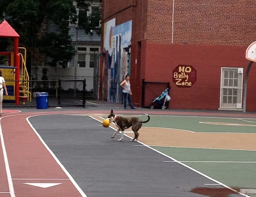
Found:
[[[51, 115], [51, 114], [49, 114]], [[39, 115], [34, 115], [34, 116], [40, 116]], [[58, 160], [58, 158], [56, 157], [56, 155], [52, 152], [52, 150], [50, 150], [50, 148], [47, 146], [47, 144], [44, 142], [44, 140], [41, 138], [41, 136], [38, 134], [38, 132], [36, 131], [36, 129], [32, 126], [32, 124], [30, 123], [30, 121], [28, 120], [30, 117], [33, 116], [29, 116], [28, 118], [26, 118], [28, 124], [30, 125], [30, 127], [34, 130], [35, 134], [38, 136], [39, 140], [42, 142], [42, 144], [45, 146], [45, 148], [48, 150], [48, 152], [52, 155], [52, 157], [54, 158], [54, 160], [57, 162], [57, 164], [61, 167], [61, 169], [64, 171], [64, 173], [66, 173], [66, 175], [68, 176], [68, 178], [70, 179], [70, 181], [73, 183], [73, 185], [76, 187], [76, 189], [78, 190], [78, 192], [82, 195], [82, 197], [87, 197], [86, 194], [82, 191], [82, 189], [79, 187], [79, 185], [76, 183], [76, 181], [74, 180], [74, 178], [70, 175], [70, 173], [66, 170], [66, 168], [64, 167], [64, 165], [62, 165], [62, 163], [60, 163], [60, 160]]]

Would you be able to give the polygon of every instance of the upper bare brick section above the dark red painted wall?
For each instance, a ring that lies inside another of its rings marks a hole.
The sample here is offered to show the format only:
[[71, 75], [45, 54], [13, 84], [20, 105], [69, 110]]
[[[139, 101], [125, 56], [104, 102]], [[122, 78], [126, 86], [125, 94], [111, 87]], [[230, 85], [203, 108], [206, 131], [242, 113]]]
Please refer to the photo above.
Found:
[[148, 0], [148, 42], [244, 46], [255, 41], [255, 1], [174, 1], [173, 26], [172, 6], [172, 0]]

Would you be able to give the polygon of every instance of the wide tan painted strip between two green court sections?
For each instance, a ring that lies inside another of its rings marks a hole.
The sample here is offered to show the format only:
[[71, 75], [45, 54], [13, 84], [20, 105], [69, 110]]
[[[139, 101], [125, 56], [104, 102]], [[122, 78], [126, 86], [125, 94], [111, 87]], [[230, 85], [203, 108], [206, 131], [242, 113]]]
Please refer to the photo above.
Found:
[[[145, 126], [139, 133], [139, 141], [149, 146], [256, 150], [256, 134], [202, 133]], [[134, 137], [131, 132], [125, 134]]]

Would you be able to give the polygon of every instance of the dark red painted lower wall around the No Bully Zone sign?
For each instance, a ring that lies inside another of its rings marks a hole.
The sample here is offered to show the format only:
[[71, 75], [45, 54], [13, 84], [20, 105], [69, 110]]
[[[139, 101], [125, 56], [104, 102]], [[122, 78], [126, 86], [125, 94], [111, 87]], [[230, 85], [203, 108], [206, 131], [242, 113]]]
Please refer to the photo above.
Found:
[[[221, 67], [243, 67], [244, 75], [249, 61], [245, 59], [246, 47], [208, 45], [146, 46], [146, 81], [170, 82], [170, 108], [212, 109], [220, 104]], [[230, 52], [233, 51], [233, 52]], [[178, 65], [191, 65], [197, 71], [192, 87], [177, 87], [172, 81], [172, 71]], [[253, 66], [254, 65], [254, 66]], [[256, 110], [256, 63], [252, 64], [248, 80], [247, 110]], [[160, 93], [163, 90], [159, 90]], [[146, 95], [145, 104], [152, 102]]]

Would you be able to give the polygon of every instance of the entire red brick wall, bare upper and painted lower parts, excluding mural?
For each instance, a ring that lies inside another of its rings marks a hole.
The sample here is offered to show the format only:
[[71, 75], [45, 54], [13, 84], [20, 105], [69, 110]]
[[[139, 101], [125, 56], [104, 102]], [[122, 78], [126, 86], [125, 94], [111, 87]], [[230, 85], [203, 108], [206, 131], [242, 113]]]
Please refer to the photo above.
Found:
[[[108, 4], [103, 20], [116, 18], [116, 25], [132, 20], [131, 83], [136, 105], [141, 103], [145, 79], [170, 81], [170, 108], [216, 110], [221, 67], [243, 67], [245, 75], [249, 63], [245, 51], [256, 38], [255, 1], [179, 0], [174, 5], [172, 0], [104, 2]], [[173, 69], [182, 64], [197, 71], [196, 83], [190, 88], [180, 88], [172, 82]], [[246, 110], [250, 111], [256, 110], [253, 76], [256, 63], [248, 79]], [[152, 102], [154, 98], [146, 95], [145, 99]]]

